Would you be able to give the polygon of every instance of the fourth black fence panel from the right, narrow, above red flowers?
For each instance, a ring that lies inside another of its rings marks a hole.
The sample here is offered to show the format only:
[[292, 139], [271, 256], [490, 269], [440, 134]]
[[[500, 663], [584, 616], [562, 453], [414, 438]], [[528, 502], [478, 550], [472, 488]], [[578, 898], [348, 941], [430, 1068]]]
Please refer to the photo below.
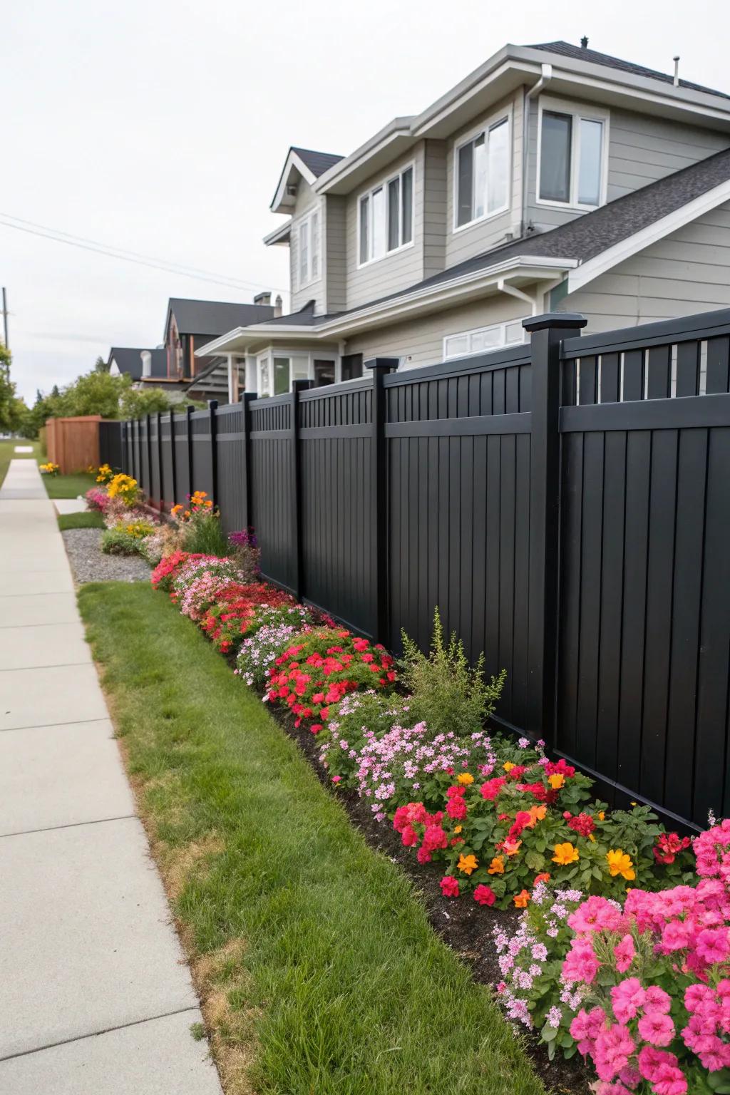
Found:
[[251, 486], [262, 573], [293, 590], [297, 584], [297, 533], [291, 411], [291, 395], [252, 402]]

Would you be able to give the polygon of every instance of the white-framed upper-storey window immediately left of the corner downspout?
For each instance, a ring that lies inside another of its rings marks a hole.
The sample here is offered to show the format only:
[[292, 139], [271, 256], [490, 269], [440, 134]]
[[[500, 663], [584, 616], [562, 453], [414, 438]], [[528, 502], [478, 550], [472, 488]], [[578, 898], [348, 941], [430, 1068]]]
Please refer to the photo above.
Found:
[[499, 118], [456, 149], [456, 228], [509, 207], [509, 118]]

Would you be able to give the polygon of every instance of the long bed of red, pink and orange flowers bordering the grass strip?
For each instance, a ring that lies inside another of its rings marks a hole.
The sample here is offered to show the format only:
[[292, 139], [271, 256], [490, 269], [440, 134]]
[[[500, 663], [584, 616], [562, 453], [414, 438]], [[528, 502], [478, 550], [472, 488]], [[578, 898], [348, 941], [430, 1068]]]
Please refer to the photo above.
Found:
[[152, 574], [237, 650], [242, 680], [316, 735], [331, 785], [439, 868], [447, 901], [522, 910], [495, 932], [508, 1016], [551, 1058], [586, 1057], [599, 1095], [730, 1092], [730, 822], [693, 846], [646, 806], [592, 799], [542, 742], [490, 737], [480, 719], [501, 678], [479, 682], [438, 616], [429, 656], [405, 644], [404, 694], [382, 646], [240, 579], [230, 558], [181, 551]]

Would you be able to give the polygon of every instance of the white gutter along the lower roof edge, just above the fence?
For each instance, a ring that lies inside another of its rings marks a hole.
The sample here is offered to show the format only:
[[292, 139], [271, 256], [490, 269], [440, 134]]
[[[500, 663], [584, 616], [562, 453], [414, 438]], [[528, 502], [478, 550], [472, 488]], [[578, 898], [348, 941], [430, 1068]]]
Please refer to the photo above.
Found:
[[[235, 353], [241, 354], [243, 349], [233, 349], [230, 344], [233, 339], [250, 336], [250, 342], [260, 342], [271, 334], [296, 335], [297, 337], [308, 337], [312, 339], [332, 339], [333, 336], [345, 333], [352, 328], [372, 326], [375, 323], [385, 324], [392, 319], [399, 319], [404, 313], [416, 311], [424, 304], [448, 302], [454, 296], [461, 296], [465, 290], [478, 290], [495, 288], [500, 291], [500, 286], [505, 286], [505, 275], [511, 277], [522, 275], [532, 277], [535, 280], [541, 277], [555, 276], [556, 272], [573, 269], [578, 265], [577, 258], [560, 258], [545, 255], [519, 255], [517, 258], [506, 258], [501, 263], [489, 266], [487, 269], [472, 270], [470, 274], [462, 274], [450, 278], [448, 281], [439, 281], [437, 285], [426, 286], [415, 289], [408, 293], [401, 293], [392, 300], [383, 300], [379, 303], [368, 304], [357, 311], [347, 312], [341, 316], [335, 316], [325, 323], [315, 326], [292, 323], [291, 325], [277, 323], [252, 323], [251, 326], [235, 327], [227, 334], [221, 335], [213, 342], [207, 343], [195, 351], [196, 357], [207, 357], [218, 354]], [[503, 290], [510, 296], [518, 296], [521, 300], [526, 299], [532, 304], [532, 298], [526, 293], [521, 293], [517, 286], [507, 286]]]

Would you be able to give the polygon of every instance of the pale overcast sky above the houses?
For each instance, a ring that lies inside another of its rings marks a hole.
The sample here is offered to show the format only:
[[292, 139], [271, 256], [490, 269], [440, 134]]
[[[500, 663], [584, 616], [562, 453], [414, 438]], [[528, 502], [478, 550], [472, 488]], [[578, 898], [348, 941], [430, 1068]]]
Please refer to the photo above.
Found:
[[708, 30], [727, 25], [722, 0], [2, 0], [0, 11], [0, 285], [28, 402], [113, 345], [159, 345], [169, 297], [246, 302], [270, 289], [287, 302], [288, 252], [262, 241], [283, 220], [269, 204], [289, 146], [347, 154], [507, 42], [586, 34], [664, 72], [681, 54], [683, 78], [730, 92], [725, 36]]

